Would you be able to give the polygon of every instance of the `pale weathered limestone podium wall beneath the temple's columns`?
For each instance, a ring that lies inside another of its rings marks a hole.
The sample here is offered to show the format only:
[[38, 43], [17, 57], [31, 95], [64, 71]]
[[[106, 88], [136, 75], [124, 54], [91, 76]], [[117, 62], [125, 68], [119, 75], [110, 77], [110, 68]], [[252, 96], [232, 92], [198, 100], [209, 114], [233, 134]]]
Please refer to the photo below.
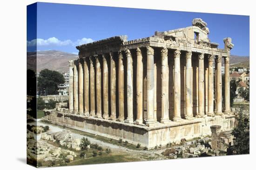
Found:
[[69, 113], [51, 113], [45, 118], [61, 126], [65, 125], [116, 140], [121, 138], [131, 144], [140, 143], [141, 146], [148, 148], [154, 148], [155, 145], [163, 146], [170, 142], [179, 143], [182, 138], [189, 140], [210, 135], [212, 125], [222, 126], [222, 131], [231, 130], [235, 122], [234, 116], [215, 116], [147, 127]]

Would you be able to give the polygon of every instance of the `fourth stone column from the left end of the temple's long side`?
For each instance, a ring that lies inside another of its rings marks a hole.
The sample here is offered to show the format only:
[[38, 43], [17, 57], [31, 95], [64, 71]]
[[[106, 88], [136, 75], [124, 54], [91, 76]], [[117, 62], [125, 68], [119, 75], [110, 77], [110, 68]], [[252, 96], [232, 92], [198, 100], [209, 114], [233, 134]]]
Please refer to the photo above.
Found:
[[88, 57], [84, 58], [84, 114], [89, 115], [89, 69]]

